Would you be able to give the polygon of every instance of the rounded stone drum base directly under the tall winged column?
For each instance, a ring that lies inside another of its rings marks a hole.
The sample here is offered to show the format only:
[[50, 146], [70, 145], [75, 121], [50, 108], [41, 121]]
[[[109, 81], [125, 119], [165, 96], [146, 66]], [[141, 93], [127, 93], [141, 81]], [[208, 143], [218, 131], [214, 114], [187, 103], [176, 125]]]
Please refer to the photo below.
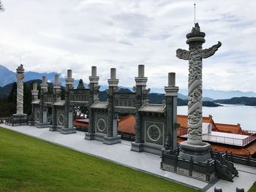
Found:
[[206, 162], [211, 160], [211, 145], [207, 142], [201, 142], [200, 145], [192, 145], [187, 141], [181, 142], [180, 158], [193, 160], [196, 162]]

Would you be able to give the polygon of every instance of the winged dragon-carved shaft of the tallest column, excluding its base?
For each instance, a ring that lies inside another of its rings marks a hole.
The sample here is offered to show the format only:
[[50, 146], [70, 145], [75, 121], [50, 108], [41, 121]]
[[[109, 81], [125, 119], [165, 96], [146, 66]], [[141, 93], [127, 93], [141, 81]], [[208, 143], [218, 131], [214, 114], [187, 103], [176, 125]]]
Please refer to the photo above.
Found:
[[178, 58], [189, 60], [187, 142], [191, 145], [200, 145], [202, 142], [202, 60], [214, 55], [222, 45], [218, 42], [217, 45], [202, 50], [202, 45], [206, 42], [205, 36], [198, 23], [195, 23], [192, 32], [187, 34], [189, 50], [176, 51]]

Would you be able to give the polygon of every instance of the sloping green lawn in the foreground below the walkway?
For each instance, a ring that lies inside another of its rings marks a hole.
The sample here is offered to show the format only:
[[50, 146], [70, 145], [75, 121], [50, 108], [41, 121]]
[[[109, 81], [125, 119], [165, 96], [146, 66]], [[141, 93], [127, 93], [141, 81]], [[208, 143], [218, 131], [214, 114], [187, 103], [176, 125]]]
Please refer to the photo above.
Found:
[[0, 128], [0, 191], [196, 190]]

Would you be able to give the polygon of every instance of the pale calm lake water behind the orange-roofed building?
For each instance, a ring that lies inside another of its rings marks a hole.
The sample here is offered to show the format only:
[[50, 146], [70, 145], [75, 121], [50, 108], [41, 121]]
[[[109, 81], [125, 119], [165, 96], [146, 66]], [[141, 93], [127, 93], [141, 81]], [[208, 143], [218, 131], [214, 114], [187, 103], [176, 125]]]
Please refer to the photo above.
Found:
[[[240, 123], [242, 129], [256, 131], [256, 107], [223, 105], [223, 107], [203, 107], [203, 116], [212, 115], [215, 123]], [[178, 115], [187, 115], [187, 106], [178, 106]]]

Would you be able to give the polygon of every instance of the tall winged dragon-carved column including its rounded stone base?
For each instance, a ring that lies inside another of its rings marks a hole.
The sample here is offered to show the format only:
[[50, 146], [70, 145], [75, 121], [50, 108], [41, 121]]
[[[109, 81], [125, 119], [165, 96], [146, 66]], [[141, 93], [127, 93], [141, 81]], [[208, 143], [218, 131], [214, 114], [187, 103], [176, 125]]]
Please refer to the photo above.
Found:
[[202, 45], [206, 42], [205, 36], [198, 23], [195, 23], [192, 32], [187, 34], [189, 50], [176, 51], [178, 58], [189, 60], [188, 139], [181, 143], [180, 155], [181, 158], [193, 158], [194, 161], [207, 161], [211, 158], [211, 145], [202, 142], [202, 60], [214, 55], [222, 45], [218, 42], [217, 45], [202, 50]]

